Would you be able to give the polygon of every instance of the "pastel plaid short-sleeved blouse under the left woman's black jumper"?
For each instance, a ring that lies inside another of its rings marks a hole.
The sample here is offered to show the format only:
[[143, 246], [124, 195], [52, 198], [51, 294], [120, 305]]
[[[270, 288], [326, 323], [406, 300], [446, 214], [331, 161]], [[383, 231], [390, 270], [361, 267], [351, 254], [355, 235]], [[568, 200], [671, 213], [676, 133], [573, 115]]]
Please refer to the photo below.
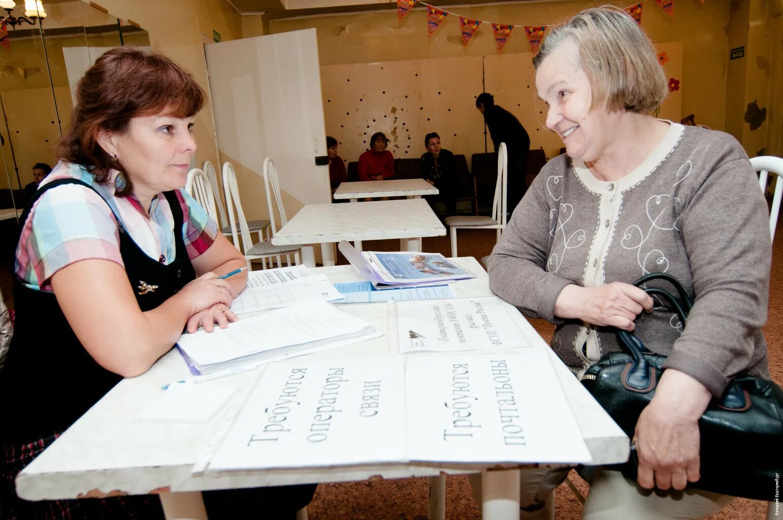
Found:
[[[100, 196], [85, 186], [70, 184], [47, 191], [35, 202], [16, 247], [15, 271], [22, 283], [31, 289], [51, 292], [49, 279], [54, 273], [88, 258], [103, 258], [124, 267], [114, 215], [146, 255], [166, 265], [174, 261], [174, 218], [166, 197], [158, 193], [148, 215], [134, 195], [114, 195], [116, 175], [113, 170], [108, 184], [98, 184], [81, 164], [61, 161], [41, 182], [44, 186], [56, 179], [79, 179], [95, 188]], [[218, 227], [185, 190], [176, 193], [184, 216], [182, 237], [189, 258], [193, 259], [212, 245]]]

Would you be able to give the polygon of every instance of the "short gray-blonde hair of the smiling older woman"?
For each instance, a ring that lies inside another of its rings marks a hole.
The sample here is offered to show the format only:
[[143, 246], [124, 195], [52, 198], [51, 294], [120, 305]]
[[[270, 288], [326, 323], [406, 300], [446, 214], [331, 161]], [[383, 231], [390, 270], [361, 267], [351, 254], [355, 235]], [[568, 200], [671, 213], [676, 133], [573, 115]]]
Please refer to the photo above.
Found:
[[579, 62], [593, 89], [593, 106], [649, 112], [668, 93], [666, 74], [647, 34], [623, 9], [604, 5], [585, 9], [554, 27], [533, 58], [538, 69], [561, 43], [572, 38]]

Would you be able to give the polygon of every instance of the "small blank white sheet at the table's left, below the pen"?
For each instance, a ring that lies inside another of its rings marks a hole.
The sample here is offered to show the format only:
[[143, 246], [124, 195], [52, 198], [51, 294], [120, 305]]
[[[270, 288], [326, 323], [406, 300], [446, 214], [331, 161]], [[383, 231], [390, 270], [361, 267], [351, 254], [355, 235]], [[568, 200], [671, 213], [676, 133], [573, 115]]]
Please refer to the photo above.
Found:
[[148, 422], [206, 422], [226, 403], [236, 387], [219, 383], [171, 385], [135, 417]]

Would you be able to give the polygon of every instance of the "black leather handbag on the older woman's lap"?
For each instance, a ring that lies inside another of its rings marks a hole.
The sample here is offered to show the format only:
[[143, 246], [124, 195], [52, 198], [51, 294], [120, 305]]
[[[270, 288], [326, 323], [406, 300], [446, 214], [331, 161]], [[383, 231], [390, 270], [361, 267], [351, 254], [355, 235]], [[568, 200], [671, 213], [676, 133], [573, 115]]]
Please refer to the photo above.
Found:
[[[666, 280], [679, 294], [679, 301], [668, 291], [641, 287], [648, 294], [666, 301], [685, 324], [693, 302], [680, 282], [666, 273], [642, 276], [633, 285], [650, 280]], [[612, 352], [590, 366], [582, 379], [588, 392], [633, 439], [637, 420], [644, 406], [655, 395], [666, 356], [649, 352], [642, 342], [625, 330], [617, 332], [625, 352]], [[783, 470], [783, 391], [772, 381], [738, 375], [720, 399], [713, 399], [698, 421], [701, 436], [701, 478], [689, 487], [745, 497], [774, 500], [776, 475]], [[637, 478], [636, 452], [625, 464], [605, 466]], [[779, 478], [779, 476], [778, 476]]]

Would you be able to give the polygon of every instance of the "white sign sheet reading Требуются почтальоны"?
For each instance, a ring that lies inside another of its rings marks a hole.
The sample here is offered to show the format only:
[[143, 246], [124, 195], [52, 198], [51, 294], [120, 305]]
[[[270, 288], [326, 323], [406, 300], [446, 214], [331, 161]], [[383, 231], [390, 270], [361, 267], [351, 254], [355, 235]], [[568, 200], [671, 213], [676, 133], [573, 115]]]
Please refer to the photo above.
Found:
[[543, 352], [406, 356], [406, 392], [412, 461], [590, 462]]

